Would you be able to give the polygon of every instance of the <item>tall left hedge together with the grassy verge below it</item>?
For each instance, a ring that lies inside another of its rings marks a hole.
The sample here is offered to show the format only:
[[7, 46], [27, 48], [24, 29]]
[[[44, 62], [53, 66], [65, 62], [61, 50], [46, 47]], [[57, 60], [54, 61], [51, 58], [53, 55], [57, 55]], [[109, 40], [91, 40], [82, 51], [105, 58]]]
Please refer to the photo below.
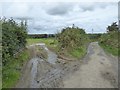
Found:
[[27, 31], [23, 22], [17, 24], [13, 19], [2, 19], [0, 22], [2, 23], [2, 85], [3, 88], [9, 88], [17, 82], [23, 62], [29, 58], [29, 53], [24, 50]]

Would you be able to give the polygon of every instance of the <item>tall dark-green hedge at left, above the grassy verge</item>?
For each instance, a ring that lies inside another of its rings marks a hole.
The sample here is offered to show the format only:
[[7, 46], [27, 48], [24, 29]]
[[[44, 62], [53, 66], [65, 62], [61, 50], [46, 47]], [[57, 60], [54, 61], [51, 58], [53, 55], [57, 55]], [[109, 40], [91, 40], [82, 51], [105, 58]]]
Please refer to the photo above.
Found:
[[6, 65], [10, 57], [14, 57], [25, 47], [27, 31], [26, 23], [17, 24], [13, 19], [2, 19], [2, 63]]

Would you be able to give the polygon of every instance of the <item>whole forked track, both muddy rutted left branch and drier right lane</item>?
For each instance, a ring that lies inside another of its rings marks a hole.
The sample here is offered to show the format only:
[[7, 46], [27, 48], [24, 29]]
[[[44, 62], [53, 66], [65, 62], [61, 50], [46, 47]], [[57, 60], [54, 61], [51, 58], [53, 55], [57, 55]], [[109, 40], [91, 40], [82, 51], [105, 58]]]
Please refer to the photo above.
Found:
[[117, 58], [104, 53], [98, 43], [91, 43], [83, 60], [57, 58], [44, 44], [48, 60], [31, 59], [17, 88], [114, 88], [117, 87]]

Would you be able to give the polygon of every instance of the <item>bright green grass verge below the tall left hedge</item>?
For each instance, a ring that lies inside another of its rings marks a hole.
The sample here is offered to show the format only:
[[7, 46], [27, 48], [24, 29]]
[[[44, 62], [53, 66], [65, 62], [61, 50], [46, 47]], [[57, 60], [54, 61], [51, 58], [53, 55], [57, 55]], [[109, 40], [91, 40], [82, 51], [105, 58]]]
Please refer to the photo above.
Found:
[[27, 49], [25, 49], [16, 58], [10, 58], [11, 62], [9, 62], [6, 66], [3, 66], [2, 88], [14, 87], [20, 78], [23, 64], [29, 60], [29, 57], [30, 53]]

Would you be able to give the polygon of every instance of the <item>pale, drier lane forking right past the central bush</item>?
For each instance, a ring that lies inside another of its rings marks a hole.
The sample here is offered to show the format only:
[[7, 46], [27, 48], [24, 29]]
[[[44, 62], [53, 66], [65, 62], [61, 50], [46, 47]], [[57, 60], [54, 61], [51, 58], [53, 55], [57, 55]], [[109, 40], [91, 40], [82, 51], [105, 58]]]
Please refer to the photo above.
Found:
[[88, 47], [79, 70], [64, 80], [65, 88], [114, 88], [118, 81], [117, 57], [108, 56], [97, 42]]

